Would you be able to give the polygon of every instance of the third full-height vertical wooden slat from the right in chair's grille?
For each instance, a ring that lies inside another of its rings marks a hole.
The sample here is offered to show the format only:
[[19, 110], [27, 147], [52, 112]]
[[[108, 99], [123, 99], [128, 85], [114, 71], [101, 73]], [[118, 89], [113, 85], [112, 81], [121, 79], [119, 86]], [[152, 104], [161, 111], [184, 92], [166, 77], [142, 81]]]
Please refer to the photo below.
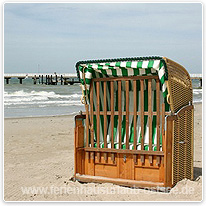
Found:
[[144, 80], [140, 80], [140, 94], [141, 94], [141, 150], [144, 150]]

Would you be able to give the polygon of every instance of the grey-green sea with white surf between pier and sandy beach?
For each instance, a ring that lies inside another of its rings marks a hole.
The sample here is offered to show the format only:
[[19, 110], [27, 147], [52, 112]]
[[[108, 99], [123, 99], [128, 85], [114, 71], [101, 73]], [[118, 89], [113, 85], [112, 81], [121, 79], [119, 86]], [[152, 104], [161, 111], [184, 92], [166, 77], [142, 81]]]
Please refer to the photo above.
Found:
[[[202, 102], [199, 80], [193, 80], [193, 101]], [[19, 84], [16, 78], [4, 82], [4, 117], [74, 115], [84, 111], [79, 83], [74, 85], [33, 84], [28, 78]]]

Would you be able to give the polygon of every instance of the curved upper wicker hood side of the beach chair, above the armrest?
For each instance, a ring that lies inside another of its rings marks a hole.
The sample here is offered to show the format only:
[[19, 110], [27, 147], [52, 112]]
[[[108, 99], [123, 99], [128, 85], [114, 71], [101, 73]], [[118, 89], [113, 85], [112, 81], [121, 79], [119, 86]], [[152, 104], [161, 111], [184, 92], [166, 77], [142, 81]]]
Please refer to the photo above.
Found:
[[172, 113], [192, 104], [192, 81], [189, 73], [180, 64], [164, 57], [168, 69], [168, 93]]

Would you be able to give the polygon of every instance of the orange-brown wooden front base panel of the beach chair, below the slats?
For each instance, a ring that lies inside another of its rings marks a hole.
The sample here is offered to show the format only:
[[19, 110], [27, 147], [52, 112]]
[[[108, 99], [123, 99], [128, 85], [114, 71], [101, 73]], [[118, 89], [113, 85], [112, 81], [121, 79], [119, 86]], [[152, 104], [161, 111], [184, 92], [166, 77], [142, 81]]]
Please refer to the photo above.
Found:
[[[121, 152], [123, 151], [111, 153], [78, 149], [75, 178], [81, 182], [110, 182], [130, 187], [165, 186], [163, 152], [159, 152], [162, 153], [161, 155], [134, 155]], [[134, 156], [136, 156], [135, 161]], [[144, 162], [142, 162], [142, 156], [144, 156]], [[171, 182], [168, 182], [166, 186], [171, 187]]]

